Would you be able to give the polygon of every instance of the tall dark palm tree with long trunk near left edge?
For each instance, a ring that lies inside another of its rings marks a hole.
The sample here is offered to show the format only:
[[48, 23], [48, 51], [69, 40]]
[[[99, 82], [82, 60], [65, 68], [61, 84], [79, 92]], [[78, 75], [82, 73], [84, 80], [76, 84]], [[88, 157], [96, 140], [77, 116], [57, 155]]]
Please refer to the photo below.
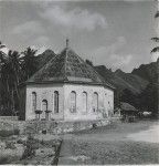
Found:
[[1, 56], [1, 80], [3, 83], [3, 105], [14, 110], [19, 103], [20, 95], [18, 84], [21, 80], [20, 54], [17, 51], [9, 51], [8, 56]]

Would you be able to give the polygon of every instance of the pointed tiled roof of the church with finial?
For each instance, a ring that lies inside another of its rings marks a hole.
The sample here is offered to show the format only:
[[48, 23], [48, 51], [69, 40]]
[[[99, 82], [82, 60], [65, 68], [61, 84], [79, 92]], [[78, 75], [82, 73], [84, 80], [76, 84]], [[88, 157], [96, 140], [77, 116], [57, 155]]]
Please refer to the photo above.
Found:
[[114, 89], [104, 79], [82, 60], [66, 43], [66, 48], [51, 59], [42, 69], [33, 74], [26, 83], [85, 83], [102, 84]]

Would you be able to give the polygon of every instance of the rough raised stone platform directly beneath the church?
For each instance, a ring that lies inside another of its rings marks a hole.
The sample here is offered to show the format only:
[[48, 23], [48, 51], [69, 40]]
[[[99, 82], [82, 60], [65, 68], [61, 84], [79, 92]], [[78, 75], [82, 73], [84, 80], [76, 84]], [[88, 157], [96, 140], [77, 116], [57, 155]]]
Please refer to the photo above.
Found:
[[50, 134], [63, 134], [77, 132], [83, 129], [89, 129], [94, 126], [105, 126], [109, 124], [108, 120], [98, 121], [80, 121], [80, 122], [53, 122], [53, 121], [29, 121], [25, 123], [23, 133], [50, 133]]

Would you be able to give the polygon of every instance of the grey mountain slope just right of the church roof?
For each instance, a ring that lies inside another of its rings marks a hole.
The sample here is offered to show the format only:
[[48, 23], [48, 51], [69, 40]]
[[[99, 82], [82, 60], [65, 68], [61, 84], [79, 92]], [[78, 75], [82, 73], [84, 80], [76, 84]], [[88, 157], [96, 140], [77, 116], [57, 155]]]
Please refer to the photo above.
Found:
[[104, 65], [95, 66], [95, 69], [107, 82], [116, 86], [119, 92], [127, 89], [134, 94], [139, 94], [148, 85], [147, 80], [131, 73], [125, 73], [121, 70], [113, 72]]

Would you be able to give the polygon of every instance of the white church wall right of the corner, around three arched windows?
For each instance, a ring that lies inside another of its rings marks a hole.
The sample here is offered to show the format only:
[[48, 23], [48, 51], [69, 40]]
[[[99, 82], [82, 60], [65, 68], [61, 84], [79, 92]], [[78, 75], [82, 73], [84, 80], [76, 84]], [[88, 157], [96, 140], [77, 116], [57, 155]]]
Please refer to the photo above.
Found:
[[[70, 94], [76, 92], [76, 113], [70, 111]], [[87, 112], [83, 113], [83, 92], [87, 93]], [[93, 94], [98, 94], [98, 112], [93, 111]], [[106, 98], [105, 98], [105, 94]], [[109, 104], [108, 104], [109, 102]], [[98, 85], [80, 85], [80, 84], [65, 84], [64, 85], [64, 120], [65, 121], [84, 121], [103, 118], [102, 112], [108, 115], [109, 106], [114, 108], [114, 92]]]

